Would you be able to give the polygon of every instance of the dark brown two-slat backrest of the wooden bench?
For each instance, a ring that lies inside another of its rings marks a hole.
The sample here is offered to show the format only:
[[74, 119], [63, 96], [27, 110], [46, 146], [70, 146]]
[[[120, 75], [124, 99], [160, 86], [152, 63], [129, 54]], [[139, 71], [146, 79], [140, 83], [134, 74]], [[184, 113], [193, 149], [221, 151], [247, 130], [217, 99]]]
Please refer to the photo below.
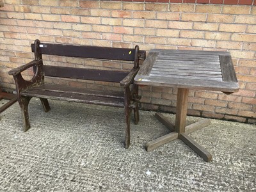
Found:
[[[31, 49], [35, 52], [35, 60], [42, 59], [42, 54], [101, 60], [123, 60], [134, 61], [134, 63], [131, 64], [134, 65], [135, 68], [139, 67], [138, 60], [145, 60], [145, 51], [141, 51], [139, 54], [138, 45], [136, 45], [134, 49], [124, 49], [113, 47], [44, 44], [40, 43], [39, 40], [35, 40], [35, 44], [31, 44]], [[98, 70], [50, 65], [44, 65], [43, 70], [44, 76], [116, 83], [124, 79], [124, 77], [129, 73], [117, 70]]]

